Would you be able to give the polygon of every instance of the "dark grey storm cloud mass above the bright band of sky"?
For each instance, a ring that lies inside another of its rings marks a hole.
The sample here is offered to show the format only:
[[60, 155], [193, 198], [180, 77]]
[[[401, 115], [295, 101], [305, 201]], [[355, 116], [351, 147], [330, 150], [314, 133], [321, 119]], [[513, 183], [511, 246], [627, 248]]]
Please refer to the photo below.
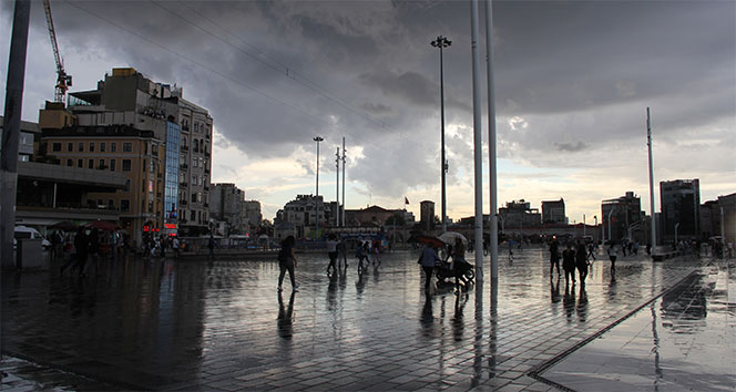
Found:
[[[12, 3], [1, 4], [10, 21]], [[28, 79], [52, 86], [42, 6], [32, 4], [39, 44], [29, 48]], [[714, 140], [733, 133], [736, 3], [493, 4], [499, 156], [565, 166], [561, 151], [641, 143], [646, 106], [658, 141], [714, 124]], [[467, 1], [54, 1], [52, 9], [73, 90], [126, 65], [177, 83], [249, 159], [311, 148], [317, 134], [330, 148], [346, 136], [364, 153], [350, 176], [386, 195], [436, 183], [439, 53], [429, 42], [447, 35], [447, 122], [466, 126], [449, 148], [452, 167], [470, 169]]]

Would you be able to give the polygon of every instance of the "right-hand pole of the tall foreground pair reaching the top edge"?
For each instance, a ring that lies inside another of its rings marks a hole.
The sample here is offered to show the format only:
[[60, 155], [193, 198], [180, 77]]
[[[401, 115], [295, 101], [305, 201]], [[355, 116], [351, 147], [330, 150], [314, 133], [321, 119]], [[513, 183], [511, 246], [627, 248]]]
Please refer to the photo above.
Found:
[[491, 279], [499, 277], [499, 224], [498, 224], [498, 186], [495, 159], [495, 85], [493, 80], [493, 1], [485, 1], [485, 72], [488, 73], [488, 172], [490, 177], [491, 210], [489, 246], [491, 247]]

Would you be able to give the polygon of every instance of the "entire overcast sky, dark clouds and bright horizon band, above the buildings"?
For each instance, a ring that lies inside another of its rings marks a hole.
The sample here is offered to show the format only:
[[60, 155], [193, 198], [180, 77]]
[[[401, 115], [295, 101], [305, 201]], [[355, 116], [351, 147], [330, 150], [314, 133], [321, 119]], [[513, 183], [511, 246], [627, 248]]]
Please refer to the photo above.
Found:
[[[4, 102], [13, 2], [0, 2]], [[183, 86], [214, 117], [212, 180], [245, 189], [268, 219], [315, 193], [316, 135], [327, 200], [345, 137], [347, 208], [400, 208], [406, 196], [417, 217], [423, 199], [440, 215], [439, 50], [430, 41], [448, 37], [448, 215], [473, 215], [470, 2], [51, 3], [72, 91], [94, 89], [116, 66]], [[593, 223], [602, 199], [632, 190], [648, 213], [647, 106], [656, 210], [660, 180], [699, 178], [702, 202], [736, 192], [735, 1], [494, 1], [493, 12], [500, 206], [562, 197], [571, 223], [583, 214]], [[42, 2], [33, 1], [23, 120], [38, 121], [54, 83]]]

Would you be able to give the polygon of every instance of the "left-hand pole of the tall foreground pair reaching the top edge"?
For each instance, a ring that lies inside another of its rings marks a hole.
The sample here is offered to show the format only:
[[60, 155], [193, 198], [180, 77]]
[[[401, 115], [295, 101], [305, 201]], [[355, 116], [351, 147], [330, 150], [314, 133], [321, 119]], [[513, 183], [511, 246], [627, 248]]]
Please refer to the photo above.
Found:
[[478, 54], [478, 0], [470, 2], [470, 49], [473, 80], [473, 157], [476, 163], [476, 289], [482, 292], [483, 282], [483, 156], [480, 102], [480, 56]]

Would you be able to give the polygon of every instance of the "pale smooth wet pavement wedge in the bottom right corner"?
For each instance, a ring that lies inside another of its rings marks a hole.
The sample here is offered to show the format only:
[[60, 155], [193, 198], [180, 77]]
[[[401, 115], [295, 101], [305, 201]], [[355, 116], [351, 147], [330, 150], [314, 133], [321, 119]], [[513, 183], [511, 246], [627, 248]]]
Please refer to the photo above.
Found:
[[689, 275], [542, 375], [577, 391], [733, 391], [735, 272]]

